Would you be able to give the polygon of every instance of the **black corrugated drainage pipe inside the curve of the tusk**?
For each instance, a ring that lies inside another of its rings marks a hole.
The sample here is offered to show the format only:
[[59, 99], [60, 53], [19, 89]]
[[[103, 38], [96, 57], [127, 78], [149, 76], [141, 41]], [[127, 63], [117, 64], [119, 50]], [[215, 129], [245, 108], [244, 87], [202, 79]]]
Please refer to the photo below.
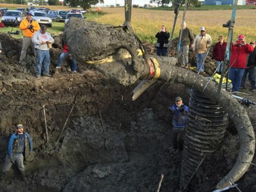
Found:
[[199, 183], [193, 175], [202, 159], [217, 150], [227, 126], [226, 111], [202, 93], [191, 89], [180, 177], [183, 191], [197, 191]]

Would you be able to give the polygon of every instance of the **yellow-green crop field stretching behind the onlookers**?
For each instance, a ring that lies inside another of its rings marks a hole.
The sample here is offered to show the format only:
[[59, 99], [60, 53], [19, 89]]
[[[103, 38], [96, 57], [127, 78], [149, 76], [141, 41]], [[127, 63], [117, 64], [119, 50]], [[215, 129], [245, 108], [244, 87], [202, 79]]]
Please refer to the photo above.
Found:
[[[15, 9], [15, 7], [21, 7], [21, 5], [13, 4], [0, 4], [1, 7], [9, 7], [9, 9]], [[24, 5], [24, 7], [27, 7]], [[51, 10], [69, 10], [70, 8], [65, 6], [44, 6]], [[214, 7], [214, 6], [213, 6]], [[247, 6], [248, 7], [248, 6]], [[81, 9], [81, 8], [79, 8]], [[222, 24], [226, 23], [231, 18], [232, 10], [207, 10], [207, 11], [191, 11], [187, 10], [186, 19], [187, 27], [192, 29], [194, 34], [197, 35], [202, 26], [205, 26], [206, 33], [210, 34], [212, 41], [215, 43], [218, 41], [219, 35], [224, 35], [227, 38], [228, 28], [223, 28]], [[174, 38], [178, 37], [179, 30], [181, 28], [183, 11], [181, 10], [178, 15], [177, 25], [174, 31]], [[155, 34], [161, 27], [161, 25], [167, 26], [167, 31], [171, 34], [173, 21], [174, 21], [173, 11], [164, 10], [148, 10], [134, 8], [132, 9], [132, 26], [135, 33], [139, 36], [142, 42], [156, 43]], [[97, 21], [102, 24], [110, 25], [122, 25], [125, 20], [124, 7], [102, 7], [101, 12], [98, 14], [95, 9], [91, 12], [84, 14], [87, 17], [86, 20]], [[256, 11], [254, 9], [238, 9], [236, 12], [236, 20], [234, 27], [234, 37], [239, 34], [245, 35], [245, 41], [247, 43], [256, 40], [256, 23], [254, 22], [256, 18]], [[14, 28], [17, 30], [18, 28]], [[11, 27], [0, 29], [0, 31], [11, 30]], [[64, 23], [53, 22], [51, 28], [48, 32], [53, 35], [58, 35], [64, 30]], [[18, 36], [18, 37], [21, 37]]]

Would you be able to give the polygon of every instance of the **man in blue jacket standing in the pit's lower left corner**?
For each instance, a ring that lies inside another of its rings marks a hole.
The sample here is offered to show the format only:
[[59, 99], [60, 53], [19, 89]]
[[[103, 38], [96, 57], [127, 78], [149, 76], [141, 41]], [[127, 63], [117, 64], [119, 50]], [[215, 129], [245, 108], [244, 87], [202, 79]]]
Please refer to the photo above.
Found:
[[[26, 180], [24, 156], [29, 155], [33, 151], [33, 142], [27, 132], [23, 130], [22, 124], [17, 124], [17, 132], [12, 134], [9, 140], [7, 155], [5, 157], [3, 171], [0, 178], [4, 180], [6, 172], [9, 171], [14, 163], [17, 163], [22, 175], [22, 179]], [[24, 155], [24, 156], [23, 156]]]

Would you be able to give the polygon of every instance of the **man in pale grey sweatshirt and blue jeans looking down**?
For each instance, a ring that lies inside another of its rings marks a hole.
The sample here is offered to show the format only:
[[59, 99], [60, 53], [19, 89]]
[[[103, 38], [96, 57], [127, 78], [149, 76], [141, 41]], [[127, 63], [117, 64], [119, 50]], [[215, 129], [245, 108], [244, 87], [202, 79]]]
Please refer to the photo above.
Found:
[[41, 77], [41, 69], [43, 66], [43, 75], [50, 77], [49, 68], [50, 68], [50, 48], [51, 44], [54, 43], [54, 39], [51, 34], [46, 32], [47, 28], [45, 25], [42, 25], [40, 30], [36, 31], [32, 41], [35, 44], [36, 49], [36, 77]]

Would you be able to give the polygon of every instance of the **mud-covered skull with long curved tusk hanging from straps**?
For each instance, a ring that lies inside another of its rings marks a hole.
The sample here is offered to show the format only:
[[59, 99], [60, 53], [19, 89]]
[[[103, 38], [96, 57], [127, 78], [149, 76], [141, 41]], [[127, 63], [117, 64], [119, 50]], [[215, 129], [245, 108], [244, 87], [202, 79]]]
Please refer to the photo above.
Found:
[[[142, 58], [136, 56], [139, 47], [130, 34], [123, 33], [120, 29], [109, 28], [109, 26], [93, 25], [71, 19], [65, 29], [64, 37], [76, 60], [83, 63], [88, 60], [99, 60], [116, 54], [117, 50], [124, 47], [130, 52], [133, 58], [132, 61], [129, 61], [129, 59], [122, 60], [121, 57], [120, 61], [97, 65], [97, 69], [123, 85], [131, 85], [138, 79], [150, 77], [149, 67], [145, 65], [145, 61]], [[102, 30], [103, 33], [99, 30]], [[90, 38], [94, 39], [94, 41], [91, 41]], [[104, 41], [107, 41], [107, 44]], [[194, 89], [201, 93], [203, 92], [227, 111], [236, 126], [240, 149], [233, 169], [219, 181], [217, 188], [224, 188], [236, 182], [249, 169], [255, 150], [253, 127], [245, 109], [225, 90], [222, 90], [220, 97], [216, 99], [217, 86], [210, 82], [204, 89], [207, 83], [206, 78], [197, 76], [189, 70], [175, 67], [177, 59], [156, 57], [155, 61], [155, 70], [159, 73], [157, 78], [166, 82], [182, 83], [188, 87], [194, 84]]]

